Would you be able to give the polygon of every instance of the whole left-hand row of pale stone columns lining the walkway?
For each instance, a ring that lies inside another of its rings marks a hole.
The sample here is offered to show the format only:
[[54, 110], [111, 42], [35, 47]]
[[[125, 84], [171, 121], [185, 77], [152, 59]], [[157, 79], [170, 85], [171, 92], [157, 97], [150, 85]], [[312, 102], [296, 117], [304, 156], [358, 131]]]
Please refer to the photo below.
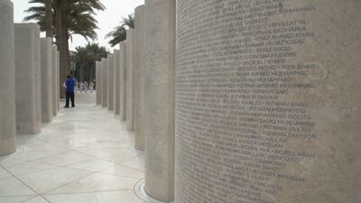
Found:
[[[0, 0], [0, 156], [16, 151], [16, 134], [39, 134], [60, 108], [59, 51], [36, 23], [14, 23]], [[15, 102], [14, 102], [15, 101]]]

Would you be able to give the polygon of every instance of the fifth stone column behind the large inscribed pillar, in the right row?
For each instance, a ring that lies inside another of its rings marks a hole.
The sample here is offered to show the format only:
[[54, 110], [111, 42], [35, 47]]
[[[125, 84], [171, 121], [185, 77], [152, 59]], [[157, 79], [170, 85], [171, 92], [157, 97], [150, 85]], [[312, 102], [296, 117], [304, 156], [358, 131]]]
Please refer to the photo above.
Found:
[[114, 113], [120, 114], [120, 53], [114, 50]]

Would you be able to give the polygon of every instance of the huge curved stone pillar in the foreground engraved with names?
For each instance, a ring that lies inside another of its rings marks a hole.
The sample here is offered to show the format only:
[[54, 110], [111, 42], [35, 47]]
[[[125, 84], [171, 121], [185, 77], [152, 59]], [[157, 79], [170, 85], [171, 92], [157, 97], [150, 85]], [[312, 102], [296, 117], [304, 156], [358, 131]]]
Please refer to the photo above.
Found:
[[177, 0], [175, 201], [360, 202], [361, 1], [231, 3]]

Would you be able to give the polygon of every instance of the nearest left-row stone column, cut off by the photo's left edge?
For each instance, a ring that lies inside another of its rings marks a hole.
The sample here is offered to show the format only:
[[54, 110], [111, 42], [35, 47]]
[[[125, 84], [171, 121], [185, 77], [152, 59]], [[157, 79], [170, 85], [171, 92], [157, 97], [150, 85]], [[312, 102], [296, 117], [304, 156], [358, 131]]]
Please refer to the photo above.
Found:
[[0, 156], [15, 147], [14, 5], [0, 0]]

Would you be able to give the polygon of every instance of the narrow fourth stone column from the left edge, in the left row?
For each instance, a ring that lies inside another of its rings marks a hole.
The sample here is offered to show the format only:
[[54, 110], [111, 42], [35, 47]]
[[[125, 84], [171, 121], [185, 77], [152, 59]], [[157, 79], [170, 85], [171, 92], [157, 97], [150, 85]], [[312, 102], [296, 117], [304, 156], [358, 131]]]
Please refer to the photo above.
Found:
[[58, 48], [52, 46], [52, 115], [58, 115]]

